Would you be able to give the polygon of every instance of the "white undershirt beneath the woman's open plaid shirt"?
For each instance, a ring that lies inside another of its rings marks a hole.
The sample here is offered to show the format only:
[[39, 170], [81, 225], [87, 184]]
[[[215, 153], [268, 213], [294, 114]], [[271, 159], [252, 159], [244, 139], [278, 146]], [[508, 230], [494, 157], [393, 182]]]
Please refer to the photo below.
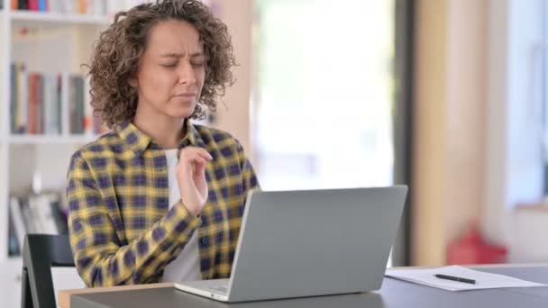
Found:
[[[171, 208], [181, 198], [176, 177], [177, 149], [166, 149], [166, 159], [168, 159], [169, 208]], [[164, 268], [164, 274], [161, 277], [162, 282], [178, 283], [201, 279], [200, 252], [196, 234], [197, 230], [192, 234], [178, 257]]]

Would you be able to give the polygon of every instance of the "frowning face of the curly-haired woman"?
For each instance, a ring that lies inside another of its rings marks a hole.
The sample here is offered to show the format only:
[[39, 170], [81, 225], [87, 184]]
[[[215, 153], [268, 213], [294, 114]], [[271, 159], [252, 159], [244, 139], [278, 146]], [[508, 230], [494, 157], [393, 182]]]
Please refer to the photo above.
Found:
[[204, 46], [198, 32], [190, 23], [169, 20], [151, 28], [137, 76], [130, 83], [137, 87], [138, 109], [187, 118], [194, 112], [204, 79]]

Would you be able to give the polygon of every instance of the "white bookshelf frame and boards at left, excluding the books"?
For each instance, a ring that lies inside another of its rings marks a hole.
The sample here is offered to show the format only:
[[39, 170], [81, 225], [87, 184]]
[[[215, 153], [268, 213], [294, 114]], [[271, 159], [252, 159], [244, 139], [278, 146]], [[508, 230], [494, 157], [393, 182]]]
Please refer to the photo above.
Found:
[[[112, 1], [112, 0], [109, 0]], [[118, 0], [116, 0], [118, 1]], [[22, 258], [8, 256], [9, 197], [40, 177], [43, 190], [64, 191], [69, 158], [96, 139], [68, 131], [68, 95], [62, 94], [59, 134], [14, 134], [10, 126], [10, 64], [23, 62], [28, 71], [83, 75], [91, 48], [111, 18], [103, 15], [39, 13], [9, 8], [0, 0], [0, 298], [3, 306], [19, 306]], [[24, 35], [21, 33], [24, 32]], [[20, 248], [23, 249], [23, 248]]]

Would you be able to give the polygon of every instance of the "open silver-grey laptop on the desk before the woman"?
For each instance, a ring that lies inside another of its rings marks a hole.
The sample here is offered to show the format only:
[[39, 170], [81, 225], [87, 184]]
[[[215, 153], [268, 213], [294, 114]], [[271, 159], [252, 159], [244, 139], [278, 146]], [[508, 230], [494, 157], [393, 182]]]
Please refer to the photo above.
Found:
[[251, 191], [230, 279], [175, 287], [227, 303], [379, 290], [406, 193]]

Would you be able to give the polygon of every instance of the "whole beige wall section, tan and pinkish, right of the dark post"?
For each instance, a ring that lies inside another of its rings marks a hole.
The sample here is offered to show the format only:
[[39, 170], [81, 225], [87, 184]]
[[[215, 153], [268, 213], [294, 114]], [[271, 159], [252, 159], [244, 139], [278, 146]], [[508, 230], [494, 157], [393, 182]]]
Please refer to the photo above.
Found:
[[487, 0], [416, 1], [412, 263], [442, 265], [483, 201]]

